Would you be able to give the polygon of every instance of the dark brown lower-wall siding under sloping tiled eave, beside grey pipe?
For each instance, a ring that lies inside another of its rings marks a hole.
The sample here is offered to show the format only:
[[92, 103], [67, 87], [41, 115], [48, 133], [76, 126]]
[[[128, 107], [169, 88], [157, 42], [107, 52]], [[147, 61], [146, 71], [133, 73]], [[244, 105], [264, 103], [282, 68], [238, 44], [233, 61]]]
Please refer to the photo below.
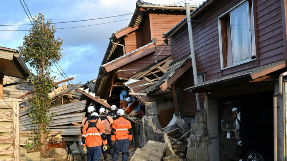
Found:
[[[194, 85], [192, 68], [189, 68], [182, 76], [177, 79], [176, 85], [180, 86], [180, 107], [181, 114], [183, 116], [195, 116], [197, 111], [195, 93], [184, 92], [183, 89], [186, 89]], [[174, 92], [174, 91], [173, 91]], [[204, 93], [200, 94], [200, 106], [204, 107]]]

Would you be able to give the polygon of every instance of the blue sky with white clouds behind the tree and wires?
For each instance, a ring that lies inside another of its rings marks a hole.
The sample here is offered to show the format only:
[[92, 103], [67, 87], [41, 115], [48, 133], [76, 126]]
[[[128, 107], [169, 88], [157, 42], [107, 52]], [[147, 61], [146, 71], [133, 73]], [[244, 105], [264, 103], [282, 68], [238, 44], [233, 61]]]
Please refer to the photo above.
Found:
[[[23, 2], [23, 0], [21, 0]], [[145, 2], [184, 6], [185, 1], [180, 0], [144, 0]], [[201, 3], [203, 0], [191, 0], [191, 5]], [[58, 29], [55, 36], [63, 39], [62, 52], [66, 55], [58, 62], [68, 77], [74, 76], [74, 84], [86, 83], [98, 76], [98, 69], [108, 47], [109, 37], [115, 31], [127, 26], [135, 10], [136, 0], [25, 0], [31, 15], [43, 13], [45, 18], [54, 22], [78, 21], [94, 18], [103, 18], [128, 14], [114, 18], [105, 18], [92, 21], [55, 24], [57, 28], [78, 27], [71, 29]], [[23, 4], [24, 5], [24, 4]], [[125, 20], [128, 19], [128, 20]], [[19, 0], [1, 1], [0, 25], [31, 24]], [[124, 21], [119, 21], [124, 20]], [[118, 21], [118, 22], [114, 22]], [[113, 23], [107, 23], [113, 22]], [[101, 24], [107, 23], [107, 24]], [[31, 26], [0, 26], [0, 30], [29, 30]], [[23, 37], [29, 31], [0, 31], [0, 46], [17, 49], [23, 43]], [[30, 66], [28, 66], [30, 68]], [[58, 80], [64, 78], [55, 67], [53, 73]], [[61, 71], [62, 72], [62, 71]]]

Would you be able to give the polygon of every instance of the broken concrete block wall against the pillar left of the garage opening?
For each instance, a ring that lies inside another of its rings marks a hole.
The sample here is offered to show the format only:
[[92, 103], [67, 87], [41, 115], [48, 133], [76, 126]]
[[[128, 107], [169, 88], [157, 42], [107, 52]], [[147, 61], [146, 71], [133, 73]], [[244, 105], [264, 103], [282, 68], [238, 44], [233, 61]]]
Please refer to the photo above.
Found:
[[[195, 142], [198, 161], [208, 160], [208, 129], [206, 121], [206, 109], [197, 111], [196, 122], [191, 125], [191, 135], [188, 139], [187, 160], [196, 160]], [[193, 134], [194, 133], [194, 134]], [[195, 140], [194, 140], [195, 137]]]

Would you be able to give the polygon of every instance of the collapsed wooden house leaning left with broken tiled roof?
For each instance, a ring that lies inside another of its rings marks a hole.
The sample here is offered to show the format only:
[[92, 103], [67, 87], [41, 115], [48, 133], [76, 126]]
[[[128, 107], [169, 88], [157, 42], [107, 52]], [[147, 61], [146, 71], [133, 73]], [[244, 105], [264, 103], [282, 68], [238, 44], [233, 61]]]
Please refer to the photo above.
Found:
[[[140, 82], [131, 84], [130, 92], [137, 93], [157, 81], [171, 62], [170, 46], [164, 42], [162, 34], [181, 21], [185, 14], [185, 7], [137, 1], [130, 24], [110, 38], [99, 69], [95, 95], [111, 105], [118, 105], [119, 94], [125, 86], [123, 83], [130, 79], [141, 80], [144, 86]], [[165, 98], [172, 97], [170, 91], [165, 93]], [[143, 103], [163, 99], [144, 98], [142, 94], [139, 97]]]

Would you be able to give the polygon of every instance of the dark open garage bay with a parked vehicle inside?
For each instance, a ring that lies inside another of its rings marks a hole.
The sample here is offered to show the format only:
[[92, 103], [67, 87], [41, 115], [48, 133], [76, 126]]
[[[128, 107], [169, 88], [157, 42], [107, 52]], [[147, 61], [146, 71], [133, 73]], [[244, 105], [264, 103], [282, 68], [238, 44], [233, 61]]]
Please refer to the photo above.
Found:
[[[272, 96], [271, 96], [272, 98]], [[222, 103], [221, 120], [223, 153], [232, 160], [273, 158], [272, 100], [256, 96]]]

